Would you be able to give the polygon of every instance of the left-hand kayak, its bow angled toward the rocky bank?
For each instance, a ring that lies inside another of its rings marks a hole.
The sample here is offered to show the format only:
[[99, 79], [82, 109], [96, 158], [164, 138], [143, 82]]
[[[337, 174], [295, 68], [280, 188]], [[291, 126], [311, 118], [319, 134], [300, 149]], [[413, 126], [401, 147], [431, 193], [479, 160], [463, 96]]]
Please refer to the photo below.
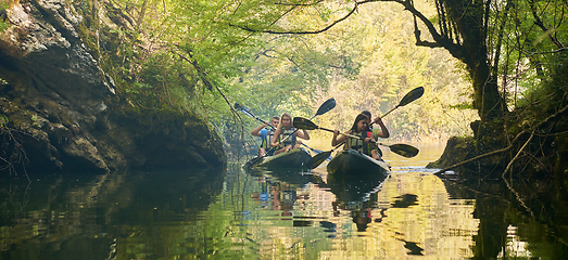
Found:
[[266, 169], [291, 169], [303, 168], [305, 162], [312, 158], [310, 152], [300, 147], [293, 148], [273, 156], [266, 156], [255, 167]]

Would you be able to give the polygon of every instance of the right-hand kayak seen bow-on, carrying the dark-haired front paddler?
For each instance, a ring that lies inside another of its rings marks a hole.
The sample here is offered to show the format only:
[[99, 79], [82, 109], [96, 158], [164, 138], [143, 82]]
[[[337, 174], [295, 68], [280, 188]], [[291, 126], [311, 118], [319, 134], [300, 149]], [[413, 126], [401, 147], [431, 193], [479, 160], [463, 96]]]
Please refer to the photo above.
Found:
[[343, 177], [378, 176], [384, 180], [390, 174], [390, 167], [358, 151], [343, 150], [329, 161], [327, 172]]

